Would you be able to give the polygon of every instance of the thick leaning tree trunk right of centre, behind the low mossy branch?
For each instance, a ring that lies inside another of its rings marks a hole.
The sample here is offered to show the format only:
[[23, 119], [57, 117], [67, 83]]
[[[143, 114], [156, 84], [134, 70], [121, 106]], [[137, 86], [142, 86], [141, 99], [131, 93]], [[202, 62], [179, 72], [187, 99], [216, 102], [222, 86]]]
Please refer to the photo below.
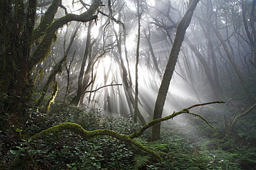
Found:
[[[174, 44], [172, 46], [172, 50], [170, 52], [169, 59], [167, 61], [167, 65], [165, 68], [165, 72], [163, 74], [163, 79], [161, 82], [161, 86], [158, 90], [158, 96], [156, 98], [156, 104], [154, 107], [154, 116], [153, 119], [161, 118], [163, 114], [163, 107], [165, 105], [165, 99], [166, 95], [169, 89], [170, 81], [172, 79], [172, 74], [175, 69], [175, 65], [179, 56], [179, 52], [181, 50], [181, 44], [184, 40], [185, 36], [185, 31], [188, 28], [188, 25], [190, 25], [190, 21], [192, 18], [192, 14], [194, 11], [194, 8], [196, 8], [197, 3], [199, 0], [193, 0], [190, 3], [190, 6], [185, 12], [184, 17], [181, 19], [177, 31], [176, 31], [176, 36], [174, 39]], [[160, 129], [161, 129], [161, 124], [157, 123], [152, 127], [152, 140], [159, 140], [160, 139]]]

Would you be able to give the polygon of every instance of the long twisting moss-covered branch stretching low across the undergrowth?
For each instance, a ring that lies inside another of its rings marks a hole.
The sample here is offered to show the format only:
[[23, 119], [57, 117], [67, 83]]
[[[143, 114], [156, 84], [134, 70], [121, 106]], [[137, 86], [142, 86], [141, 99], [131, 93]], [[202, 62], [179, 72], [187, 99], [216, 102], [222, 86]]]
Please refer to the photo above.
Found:
[[[143, 132], [147, 128], [151, 127], [152, 125], [155, 125], [156, 123], [160, 123], [160, 122], [163, 122], [163, 121], [168, 120], [170, 118], [174, 118], [175, 116], [178, 116], [179, 114], [183, 114], [183, 113], [192, 114], [192, 113], [190, 113], [189, 109], [192, 109], [193, 107], [202, 106], [202, 105], [210, 105], [210, 104], [213, 104], [213, 103], [224, 103], [224, 102], [223, 101], [215, 101], [215, 102], [210, 102], [210, 103], [202, 103], [202, 104], [192, 105], [192, 106], [190, 106], [188, 108], [185, 108], [181, 111], [174, 112], [170, 116], [166, 116], [164, 118], [158, 118], [156, 120], [152, 120], [150, 123], [147, 123], [147, 125], [143, 126], [142, 129], [140, 129], [139, 131], [137, 131], [136, 133], [131, 134], [131, 135], [118, 134], [116, 131], [111, 131], [109, 129], [98, 129], [98, 130], [94, 130], [94, 131], [86, 131], [84, 128], [82, 128], [82, 126], [80, 126], [76, 123], [62, 123], [60, 125], [56, 125], [54, 127], [48, 128], [44, 131], [41, 131], [39, 134], [35, 134], [34, 136], [32, 136], [28, 139], [37, 140], [37, 139], [47, 138], [47, 136], [49, 134], [57, 135], [58, 132], [63, 131], [63, 130], [73, 131], [75, 134], [78, 134], [78, 135], [82, 136], [86, 140], [88, 140], [90, 138], [94, 138], [95, 136], [112, 136], [113, 138], [117, 138], [118, 140], [122, 140], [124, 142], [129, 142], [129, 143], [135, 145], [139, 149], [141, 149], [143, 151], [146, 151], [147, 153], [150, 153], [154, 158], [158, 159], [161, 162], [162, 158], [161, 158], [161, 156], [158, 155], [158, 153], [156, 153], [155, 151], [152, 151], [151, 149], [143, 147], [143, 145], [140, 145], [138, 142], [136, 142], [135, 140], [132, 140], [132, 139], [137, 138], [138, 136], [143, 134]], [[212, 125], [210, 125], [205, 120], [205, 118], [203, 118], [202, 116], [200, 116], [198, 114], [192, 114], [192, 115], [203, 119], [205, 121], [205, 123], [207, 123], [210, 127], [212, 127]], [[212, 127], [212, 128], [214, 128], [214, 127]]]

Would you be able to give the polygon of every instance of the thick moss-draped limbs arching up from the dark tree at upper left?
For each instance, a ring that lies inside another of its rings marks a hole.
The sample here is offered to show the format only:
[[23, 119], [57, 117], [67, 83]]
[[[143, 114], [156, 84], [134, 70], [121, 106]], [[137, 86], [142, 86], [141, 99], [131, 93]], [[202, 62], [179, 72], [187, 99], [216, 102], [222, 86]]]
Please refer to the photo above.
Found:
[[43, 36], [42, 41], [39, 43], [35, 52], [29, 58], [29, 66], [28, 70], [33, 70], [33, 67], [38, 63], [41, 63], [45, 59], [47, 59], [48, 54], [51, 52], [51, 45], [56, 40], [55, 32], [57, 29], [62, 28], [63, 25], [70, 21], [91, 21], [96, 19], [97, 16], [93, 15], [95, 11], [100, 6], [99, 0], [94, 0], [91, 4], [89, 10], [84, 12], [83, 14], [66, 14], [64, 17], [55, 20], [53, 23], [53, 17], [55, 16], [55, 12], [57, 11], [57, 7], [61, 4], [60, 0], [53, 1], [51, 8], [48, 9], [46, 14], [44, 14], [44, 18], [42, 22], [39, 24], [38, 28], [33, 32], [33, 37], [30, 41], [36, 41]]

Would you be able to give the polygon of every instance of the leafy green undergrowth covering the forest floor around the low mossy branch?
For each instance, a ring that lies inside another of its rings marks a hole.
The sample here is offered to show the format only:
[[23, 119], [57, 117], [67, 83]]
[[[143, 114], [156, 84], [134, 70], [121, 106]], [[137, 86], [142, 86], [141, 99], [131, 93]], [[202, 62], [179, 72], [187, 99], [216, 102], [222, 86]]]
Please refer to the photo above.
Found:
[[[13, 140], [8, 146], [3, 146], [7, 142], [1, 138], [3, 162], [0, 169], [255, 169], [254, 136], [243, 129], [235, 129], [235, 138], [223, 140], [220, 129], [210, 132], [197, 121], [192, 118], [182, 126], [166, 124], [162, 140], [156, 142], [149, 142], [150, 131], [135, 139], [160, 154], [162, 164], [116, 138], [100, 136], [88, 141], [62, 131], [57, 136], [49, 134], [44, 140]], [[140, 129], [140, 125], [129, 118], [103, 117], [98, 109], [84, 110], [55, 103], [49, 115], [34, 111], [26, 129], [17, 129], [17, 134], [26, 138], [65, 122], [77, 123], [86, 130], [111, 129], [120, 134], [132, 134]], [[185, 125], [188, 122], [190, 125]], [[249, 128], [247, 124], [241, 127]], [[199, 137], [191, 131], [203, 135]], [[11, 134], [7, 134], [5, 132], [4, 137], [12, 140]], [[249, 141], [252, 145], [241, 141]]]

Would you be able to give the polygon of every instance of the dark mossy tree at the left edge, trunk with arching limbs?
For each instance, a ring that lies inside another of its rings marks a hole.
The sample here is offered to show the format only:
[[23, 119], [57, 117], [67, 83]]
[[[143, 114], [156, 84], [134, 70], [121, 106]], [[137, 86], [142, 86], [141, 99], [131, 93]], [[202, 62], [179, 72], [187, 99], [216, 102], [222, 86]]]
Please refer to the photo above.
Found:
[[[51, 44], [56, 39], [55, 32], [70, 21], [86, 22], [96, 19], [97, 15], [94, 14], [100, 3], [100, 0], [94, 0], [90, 8], [82, 14], [66, 14], [54, 20], [62, 1], [53, 0], [35, 28], [37, 0], [29, 0], [27, 6], [21, 0], [0, 0], [2, 125], [15, 125], [20, 128], [26, 123], [26, 108], [30, 107], [29, 100], [33, 89], [32, 72], [51, 52]], [[33, 53], [32, 46], [35, 47]], [[10, 121], [6, 121], [6, 115]]]

